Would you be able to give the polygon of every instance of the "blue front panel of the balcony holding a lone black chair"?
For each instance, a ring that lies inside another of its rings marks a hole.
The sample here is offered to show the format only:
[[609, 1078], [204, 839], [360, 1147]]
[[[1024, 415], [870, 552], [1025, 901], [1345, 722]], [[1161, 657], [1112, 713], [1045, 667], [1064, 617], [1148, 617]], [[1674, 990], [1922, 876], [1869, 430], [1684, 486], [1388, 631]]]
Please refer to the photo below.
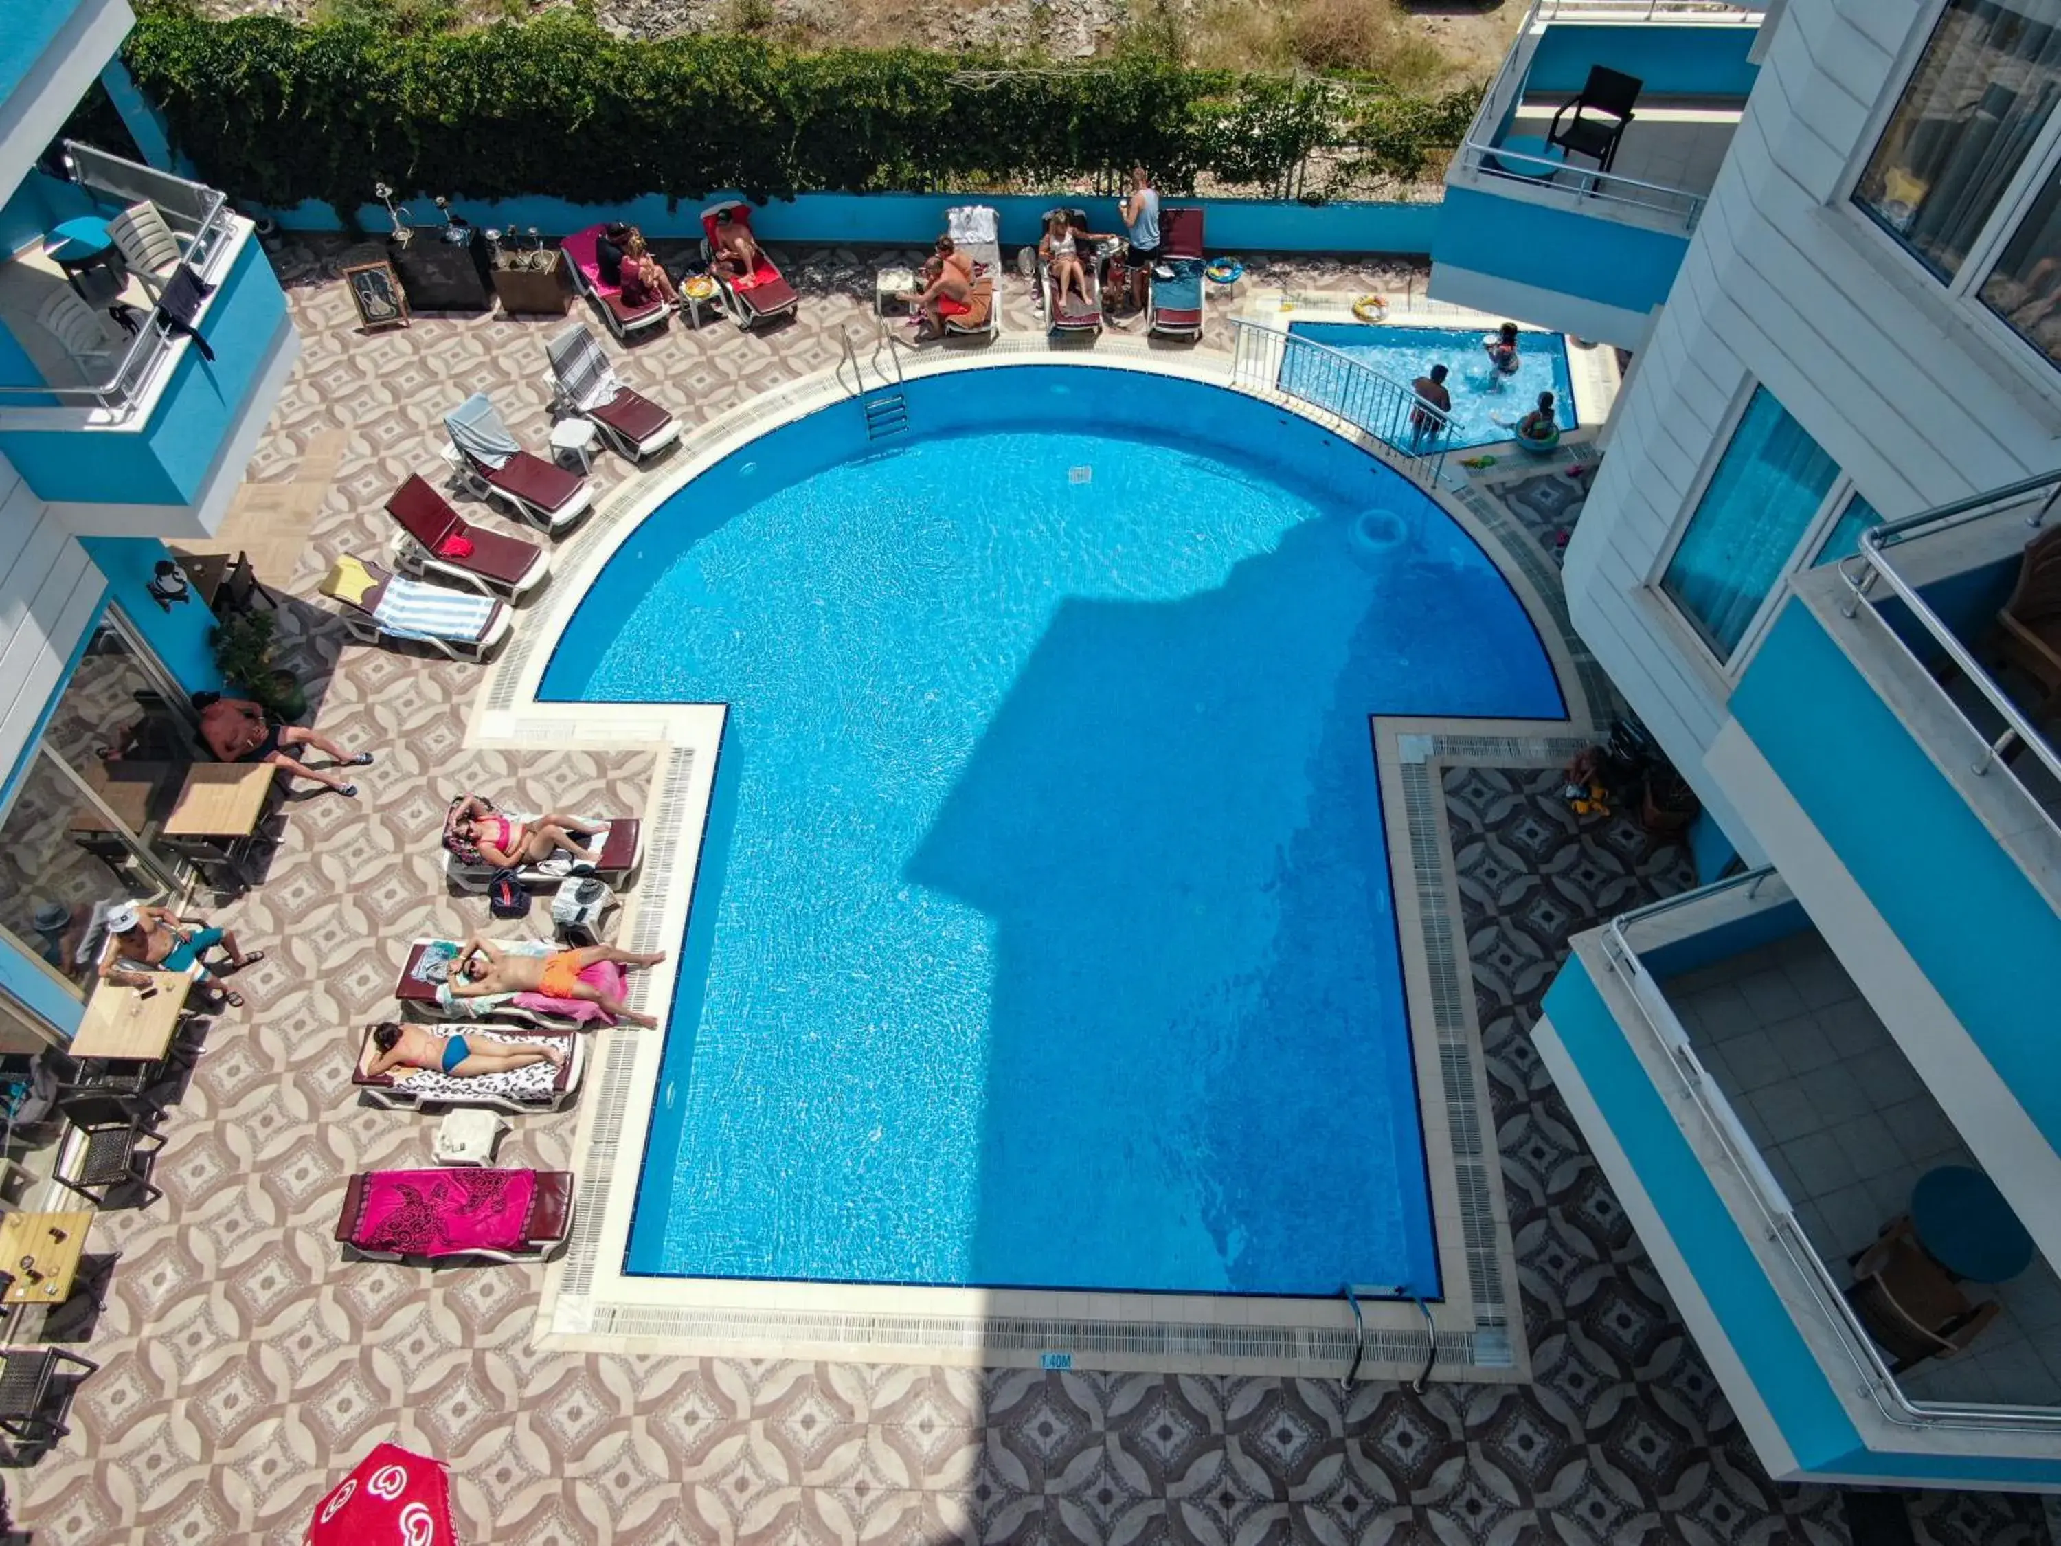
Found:
[[1667, 299], [1686, 251], [1688, 237], [1449, 188], [1430, 256], [1597, 305], [1651, 311]]

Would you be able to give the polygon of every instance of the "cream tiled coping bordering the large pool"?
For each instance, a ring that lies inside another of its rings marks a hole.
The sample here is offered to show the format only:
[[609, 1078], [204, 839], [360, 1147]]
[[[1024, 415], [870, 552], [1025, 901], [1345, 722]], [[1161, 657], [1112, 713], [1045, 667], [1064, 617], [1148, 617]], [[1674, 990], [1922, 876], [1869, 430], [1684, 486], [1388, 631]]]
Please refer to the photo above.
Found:
[[[1298, 313], [1309, 315], [1309, 313]], [[1214, 322], [1214, 317], [1212, 317]], [[1129, 369], [1228, 388], [1228, 357], [1175, 352], [1131, 338], [1094, 350], [1047, 348], [1041, 334], [1004, 334], [979, 352], [927, 350], [903, 363], [907, 379], [1024, 363]], [[849, 379], [849, 371], [845, 373]], [[488, 666], [474, 697], [468, 746], [608, 746], [657, 752], [645, 808], [645, 864], [624, 897], [618, 940], [670, 952], [633, 977], [631, 1004], [672, 1002], [674, 959], [686, 932], [703, 831], [721, 744], [721, 705], [540, 703], [544, 668], [581, 598], [616, 548], [678, 489], [744, 443], [851, 396], [833, 373], [802, 377], [688, 431], [664, 466], [633, 476], [559, 552], [544, 596], [521, 612], [517, 637]], [[1265, 398], [1333, 433], [1317, 408]], [[1371, 437], [1348, 439], [1369, 449]], [[1476, 1022], [1474, 992], [1451, 876], [1445, 802], [1434, 769], [1463, 754], [1513, 763], [1562, 761], [1587, 744], [1589, 711], [1577, 662], [1511, 532], [1488, 530], [1469, 503], [1432, 491], [1445, 513], [1490, 554], [1538, 625], [1573, 726], [1542, 721], [1377, 719], [1375, 744], [1387, 822], [1395, 915], [1410, 1002], [1426, 1169], [1445, 1301], [1430, 1305], [1439, 1379], [1519, 1381], [1529, 1350], [1517, 1288], [1509, 1210]], [[1521, 534], [1517, 534], [1521, 540]], [[1533, 565], [1535, 569], [1535, 565]], [[573, 1146], [573, 1241], [546, 1270], [536, 1321], [542, 1344], [563, 1350], [857, 1358], [923, 1365], [1024, 1365], [1177, 1373], [1278, 1373], [1338, 1377], [1358, 1344], [1344, 1297], [1249, 1299], [1230, 1295], [1125, 1295], [1004, 1288], [905, 1288], [631, 1276], [622, 1270], [645, 1134], [655, 1107], [664, 1031], [596, 1033], [587, 1093]], [[1410, 1301], [1364, 1303], [1362, 1377], [1412, 1377], [1430, 1348], [1424, 1311]]]

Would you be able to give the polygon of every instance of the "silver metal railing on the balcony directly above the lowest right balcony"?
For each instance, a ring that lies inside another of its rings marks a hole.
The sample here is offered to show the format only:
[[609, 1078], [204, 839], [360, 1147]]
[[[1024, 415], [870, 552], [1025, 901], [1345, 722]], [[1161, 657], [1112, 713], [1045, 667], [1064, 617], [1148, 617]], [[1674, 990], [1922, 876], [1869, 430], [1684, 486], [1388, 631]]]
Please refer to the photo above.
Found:
[[[1861, 550], [1851, 559], [1843, 559], [1838, 565], [1840, 577], [1853, 590], [1847, 604], [1840, 606], [1845, 616], [1855, 616], [1861, 610], [1861, 602], [1873, 600], [1876, 583], [1880, 581], [1902, 602], [1904, 610], [1917, 620], [1917, 625], [1931, 635], [1946, 658], [1960, 668], [1962, 676], [1989, 701], [1997, 717], [2003, 721], [2003, 730], [1989, 734], [1968, 721], [1966, 713], [1962, 719], [1974, 730], [1976, 738], [1985, 742], [1983, 754], [1974, 761], [1972, 769], [1976, 775], [1987, 775], [1999, 763], [2009, 769], [2003, 754], [2014, 746], [2024, 746], [2038, 759], [2047, 773], [2061, 781], [2061, 754], [2047, 742], [2038, 726], [2026, 715], [2018, 703], [1997, 684], [1997, 678], [1976, 660], [1974, 651], [1956, 637], [1954, 629], [1927, 604], [1925, 596], [1911, 581], [1908, 575], [1898, 573], [1898, 550], [1917, 552], [1915, 544], [1925, 538], [1944, 536], [1948, 532], [1962, 530], [1974, 522], [1987, 522], [1999, 515], [2018, 515], [2028, 532], [2038, 532], [2047, 517], [2053, 513], [2055, 501], [2061, 501], [2061, 470], [2045, 472], [2036, 478], [2022, 478], [2020, 482], [2007, 482], [2001, 489], [1991, 489], [1989, 493], [1974, 495], [1972, 499], [1958, 499], [1950, 505], [1937, 505], [1917, 515], [1906, 515], [1900, 522], [1884, 522], [1882, 526], [1869, 528], [1861, 534]], [[2030, 540], [2030, 538], [2028, 538]], [[1896, 647], [1911, 658], [1919, 670], [1927, 670], [1927, 664], [1917, 658], [1908, 641], [1896, 629], [1884, 629], [1884, 633], [1896, 641]], [[1946, 697], [1941, 693], [1941, 697]], [[1952, 703], [1952, 699], [1948, 699]], [[2012, 773], [2016, 779], [2016, 771]], [[2018, 779], [2020, 787], [2032, 798], [2032, 804], [2040, 806], [2047, 814], [2047, 822], [2061, 831], [2061, 822], [2055, 814], [2047, 810], [2040, 794]]]

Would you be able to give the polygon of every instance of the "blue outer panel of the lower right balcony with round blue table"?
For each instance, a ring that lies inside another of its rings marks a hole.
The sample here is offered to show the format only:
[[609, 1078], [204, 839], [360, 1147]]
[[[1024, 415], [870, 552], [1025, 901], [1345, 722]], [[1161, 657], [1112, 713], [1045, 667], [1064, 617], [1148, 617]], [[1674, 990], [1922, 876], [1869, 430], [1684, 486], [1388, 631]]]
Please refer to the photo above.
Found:
[[1917, 1447], [1925, 1443], [1919, 1435], [1898, 1433], [1898, 1447], [1867, 1449], [1581, 959], [1568, 959], [1554, 979], [1546, 1016], [1803, 1470], [1919, 1484], [2061, 1482], [2061, 1459], [1933, 1455]]

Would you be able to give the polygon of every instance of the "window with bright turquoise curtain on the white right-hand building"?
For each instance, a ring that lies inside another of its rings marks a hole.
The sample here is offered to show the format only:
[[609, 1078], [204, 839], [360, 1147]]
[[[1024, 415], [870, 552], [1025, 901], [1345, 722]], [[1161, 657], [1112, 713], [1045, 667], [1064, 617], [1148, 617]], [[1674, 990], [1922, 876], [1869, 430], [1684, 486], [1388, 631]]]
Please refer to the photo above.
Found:
[[1836, 476], [1775, 394], [1754, 388], [1661, 575], [1661, 594], [1721, 662], [1789, 569]]

